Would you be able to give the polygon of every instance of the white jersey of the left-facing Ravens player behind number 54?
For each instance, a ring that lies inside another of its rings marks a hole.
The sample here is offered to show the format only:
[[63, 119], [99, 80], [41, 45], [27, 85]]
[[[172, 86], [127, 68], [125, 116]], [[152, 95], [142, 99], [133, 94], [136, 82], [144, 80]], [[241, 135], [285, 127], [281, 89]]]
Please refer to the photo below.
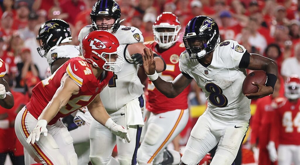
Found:
[[[75, 45], [60, 45], [53, 46], [46, 55], [49, 66], [58, 58], [73, 58], [79, 56], [79, 46]], [[77, 112], [76, 116], [79, 116], [85, 122], [91, 123], [92, 116], [90, 112], [85, 113]]]

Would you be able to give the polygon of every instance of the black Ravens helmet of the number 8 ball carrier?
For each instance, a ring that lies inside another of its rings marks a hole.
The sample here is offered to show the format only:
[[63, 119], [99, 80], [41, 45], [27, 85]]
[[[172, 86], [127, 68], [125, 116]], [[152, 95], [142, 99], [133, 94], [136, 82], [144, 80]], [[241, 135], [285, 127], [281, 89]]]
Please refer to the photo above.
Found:
[[185, 27], [184, 46], [192, 59], [204, 57], [220, 43], [217, 23], [208, 16], [196, 16]]

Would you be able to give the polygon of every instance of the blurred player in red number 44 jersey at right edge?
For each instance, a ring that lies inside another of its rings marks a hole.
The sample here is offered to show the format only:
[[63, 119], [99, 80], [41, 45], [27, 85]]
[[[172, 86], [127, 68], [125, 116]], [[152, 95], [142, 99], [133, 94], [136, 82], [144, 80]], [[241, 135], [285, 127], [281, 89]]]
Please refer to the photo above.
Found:
[[292, 75], [286, 79], [284, 98], [277, 98], [268, 143], [269, 156], [276, 161], [276, 141], [278, 145], [278, 165], [300, 165], [300, 79]]

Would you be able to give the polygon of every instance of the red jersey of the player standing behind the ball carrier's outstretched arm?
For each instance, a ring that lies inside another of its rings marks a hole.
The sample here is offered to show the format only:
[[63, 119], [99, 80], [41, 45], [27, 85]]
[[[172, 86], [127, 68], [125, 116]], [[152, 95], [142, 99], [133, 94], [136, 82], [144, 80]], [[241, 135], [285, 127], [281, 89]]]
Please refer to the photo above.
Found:
[[[173, 81], [175, 77], [181, 73], [179, 70], [179, 55], [185, 50], [184, 44], [176, 42], [175, 45], [163, 52], [159, 52], [158, 49], [155, 48], [157, 43], [154, 41], [145, 42], [144, 44], [161, 55], [167, 64], [166, 70], [162, 73], [158, 73], [160, 77], [167, 81]], [[190, 85], [187, 86], [187, 88], [185, 88], [176, 98], [167, 98], [158, 91], [152, 81], [149, 80], [149, 104], [147, 109], [153, 113], [164, 113], [176, 109], [187, 109], [187, 95], [189, 91]]]

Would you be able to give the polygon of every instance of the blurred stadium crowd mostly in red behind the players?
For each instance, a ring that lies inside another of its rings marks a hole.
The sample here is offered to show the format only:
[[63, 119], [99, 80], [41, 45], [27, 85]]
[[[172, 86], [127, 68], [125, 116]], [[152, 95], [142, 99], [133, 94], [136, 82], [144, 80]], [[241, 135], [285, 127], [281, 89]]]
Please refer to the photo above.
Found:
[[[279, 92], [281, 96], [286, 76], [300, 76], [300, 7], [297, 0], [116, 1], [121, 6], [121, 19], [126, 19], [121, 24], [139, 28], [145, 42], [153, 40], [152, 24], [164, 11], [173, 12], [179, 17], [181, 33], [191, 18], [208, 15], [217, 22], [221, 41], [236, 40], [250, 53], [264, 55], [277, 62], [282, 82]], [[36, 50], [39, 46], [36, 36], [41, 24], [48, 19], [64, 19], [71, 26], [71, 44], [78, 45], [77, 35], [82, 27], [91, 24], [89, 13], [95, 2], [96, 0], [0, 0], [0, 58], [7, 64], [8, 72], [4, 79], [11, 86], [15, 98], [13, 109], [0, 108], [0, 119], [8, 119], [11, 123], [11, 128], [0, 129], [0, 153], [15, 152], [16, 155], [22, 155], [22, 151], [17, 149], [13, 131], [14, 117], [20, 107], [28, 102], [32, 87], [50, 74], [46, 59], [41, 58]], [[180, 40], [182, 41], [182, 37]], [[285, 62], [287, 59], [296, 62]], [[179, 149], [179, 145], [184, 146], [190, 129], [206, 108], [204, 94], [195, 83], [192, 84], [189, 100], [190, 121], [182, 136], [174, 142], [176, 149]], [[253, 100], [251, 114], [254, 115], [255, 111], [256, 100]], [[244, 141], [244, 164], [254, 162], [249, 143], [250, 134], [251, 129]]]

